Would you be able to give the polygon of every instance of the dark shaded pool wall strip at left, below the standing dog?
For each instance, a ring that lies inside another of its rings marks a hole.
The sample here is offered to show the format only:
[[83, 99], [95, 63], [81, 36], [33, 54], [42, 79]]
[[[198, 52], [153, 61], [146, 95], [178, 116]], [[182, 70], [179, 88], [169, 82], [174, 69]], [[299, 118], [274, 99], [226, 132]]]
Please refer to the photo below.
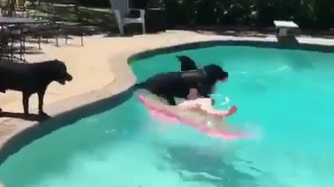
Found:
[[10, 141], [7, 141], [3, 145], [0, 150], [0, 165], [6, 161], [10, 155], [15, 154], [24, 148], [24, 146], [29, 145], [36, 139], [40, 139], [43, 136], [60, 129], [61, 127], [71, 125], [81, 118], [100, 114], [118, 107], [119, 105], [122, 105], [122, 103], [125, 103], [125, 101], [129, 100], [133, 94], [134, 89], [130, 87], [127, 91], [124, 91], [116, 96], [98, 100], [95, 103], [79, 107], [70, 112], [64, 112], [63, 114], [49, 118], [49, 120], [38, 125], [32, 125], [31, 127], [26, 128], [23, 132], [16, 134], [10, 139]]

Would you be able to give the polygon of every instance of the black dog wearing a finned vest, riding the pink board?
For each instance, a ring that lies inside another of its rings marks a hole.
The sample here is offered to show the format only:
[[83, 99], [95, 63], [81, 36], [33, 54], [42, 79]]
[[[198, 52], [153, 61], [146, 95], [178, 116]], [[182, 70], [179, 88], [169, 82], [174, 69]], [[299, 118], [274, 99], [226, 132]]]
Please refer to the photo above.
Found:
[[198, 94], [209, 98], [217, 81], [227, 80], [228, 72], [216, 64], [198, 69], [196, 63], [187, 56], [178, 56], [181, 71], [159, 73], [145, 82], [136, 84], [137, 89], [147, 89], [152, 94], [165, 98], [169, 105], [176, 105], [175, 97], [186, 98], [190, 89], [198, 89]]

